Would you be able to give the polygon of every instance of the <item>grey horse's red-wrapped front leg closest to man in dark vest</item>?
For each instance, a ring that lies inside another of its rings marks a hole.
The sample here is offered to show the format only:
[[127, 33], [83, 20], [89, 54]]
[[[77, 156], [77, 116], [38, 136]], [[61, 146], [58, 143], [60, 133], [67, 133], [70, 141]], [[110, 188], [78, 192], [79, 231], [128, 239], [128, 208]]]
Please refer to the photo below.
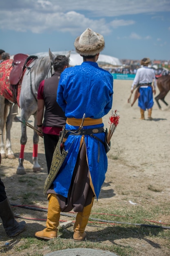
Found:
[[[34, 127], [37, 125], [37, 117], [36, 113], [34, 114]], [[38, 141], [39, 135], [34, 131], [33, 135], [33, 172], [41, 171], [40, 164], [38, 164]]]

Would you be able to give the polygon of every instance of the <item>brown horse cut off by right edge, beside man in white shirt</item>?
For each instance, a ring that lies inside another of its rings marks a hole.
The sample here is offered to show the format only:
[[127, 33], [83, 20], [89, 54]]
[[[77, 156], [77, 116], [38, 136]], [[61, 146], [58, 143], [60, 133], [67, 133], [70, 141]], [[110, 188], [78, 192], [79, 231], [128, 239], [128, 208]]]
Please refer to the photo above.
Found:
[[170, 75], [160, 76], [157, 79], [157, 87], [159, 89], [159, 94], [155, 97], [155, 100], [158, 104], [159, 109], [161, 109], [161, 105], [159, 104], [159, 99], [168, 106], [168, 103], [165, 101], [166, 94], [170, 90]]

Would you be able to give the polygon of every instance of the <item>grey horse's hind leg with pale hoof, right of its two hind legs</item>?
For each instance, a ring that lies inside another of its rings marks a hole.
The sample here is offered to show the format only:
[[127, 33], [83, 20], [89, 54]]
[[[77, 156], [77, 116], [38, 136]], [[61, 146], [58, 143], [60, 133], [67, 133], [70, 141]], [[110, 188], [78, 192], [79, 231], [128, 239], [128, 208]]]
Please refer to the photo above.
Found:
[[12, 104], [9, 104], [9, 114], [6, 122], [6, 149], [7, 157], [9, 159], [15, 159], [14, 153], [11, 148], [11, 127], [12, 127], [13, 115], [12, 115]]

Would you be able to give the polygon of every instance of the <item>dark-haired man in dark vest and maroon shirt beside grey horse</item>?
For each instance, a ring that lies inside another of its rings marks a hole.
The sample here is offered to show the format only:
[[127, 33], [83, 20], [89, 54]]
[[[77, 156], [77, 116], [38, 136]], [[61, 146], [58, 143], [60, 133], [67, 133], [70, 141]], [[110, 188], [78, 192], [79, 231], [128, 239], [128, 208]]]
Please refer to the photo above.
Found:
[[[48, 173], [60, 131], [66, 124], [66, 117], [56, 101], [61, 72], [68, 67], [69, 57], [57, 55], [53, 60], [54, 73], [43, 80], [38, 88], [37, 126], [38, 135], [44, 137], [44, 149]], [[44, 110], [45, 108], [45, 110]], [[43, 120], [44, 117], [44, 120]], [[42, 122], [43, 120], [43, 122]]]

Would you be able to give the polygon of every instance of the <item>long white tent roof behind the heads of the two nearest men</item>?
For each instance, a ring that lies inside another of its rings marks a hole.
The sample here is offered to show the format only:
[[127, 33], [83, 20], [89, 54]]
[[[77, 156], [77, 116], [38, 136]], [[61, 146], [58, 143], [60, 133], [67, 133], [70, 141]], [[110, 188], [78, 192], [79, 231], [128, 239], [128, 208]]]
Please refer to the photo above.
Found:
[[[60, 54], [60, 55], [66, 55], [68, 52], [63, 51], [63, 52], [53, 52], [53, 54]], [[35, 53], [33, 54], [35, 56], [38, 57], [44, 57], [44, 56], [48, 56], [49, 53], [48, 52], [39, 52], [39, 53]], [[70, 55], [70, 66], [75, 66], [75, 65], [81, 65], [83, 62], [83, 58], [77, 54], [77, 52], [72, 51], [71, 55]], [[118, 58], [112, 57], [112, 56], [108, 56], [108, 55], [104, 55], [104, 54], [99, 54], [99, 58], [97, 63], [99, 65], [114, 65], [114, 66], [121, 66], [122, 63]]]

